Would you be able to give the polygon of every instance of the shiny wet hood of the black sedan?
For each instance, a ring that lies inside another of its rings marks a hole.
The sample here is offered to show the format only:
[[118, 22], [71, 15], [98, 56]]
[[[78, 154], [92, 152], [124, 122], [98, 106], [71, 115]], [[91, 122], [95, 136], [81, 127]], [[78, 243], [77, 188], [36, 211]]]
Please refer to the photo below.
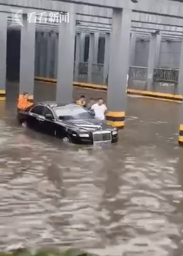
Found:
[[79, 130], [87, 131], [100, 131], [100, 130], [107, 130], [111, 129], [112, 127], [109, 126], [105, 121], [100, 121], [97, 119], [87, 119], [87, 120], [68, 120], [64, 121], [65, 124], [69, 126], [73, 126], [78, 128]]

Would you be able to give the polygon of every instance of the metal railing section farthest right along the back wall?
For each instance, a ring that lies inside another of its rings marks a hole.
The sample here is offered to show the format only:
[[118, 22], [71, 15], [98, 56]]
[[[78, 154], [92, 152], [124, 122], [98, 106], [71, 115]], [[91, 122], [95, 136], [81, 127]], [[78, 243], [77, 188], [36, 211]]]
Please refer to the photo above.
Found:
[[178, 82], [179, 70], [170, 68], [155, 68], [153, 74], [154, 82]]

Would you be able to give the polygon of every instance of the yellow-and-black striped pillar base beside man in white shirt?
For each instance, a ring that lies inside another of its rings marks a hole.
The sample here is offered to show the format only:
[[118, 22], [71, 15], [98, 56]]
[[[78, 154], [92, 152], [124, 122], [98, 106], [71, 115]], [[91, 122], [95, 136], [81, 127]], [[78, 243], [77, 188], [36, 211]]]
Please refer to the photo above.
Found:
[[106, 121], [109, 125], [118, 129], [124, 128], [125, 112], [108, 111]]

